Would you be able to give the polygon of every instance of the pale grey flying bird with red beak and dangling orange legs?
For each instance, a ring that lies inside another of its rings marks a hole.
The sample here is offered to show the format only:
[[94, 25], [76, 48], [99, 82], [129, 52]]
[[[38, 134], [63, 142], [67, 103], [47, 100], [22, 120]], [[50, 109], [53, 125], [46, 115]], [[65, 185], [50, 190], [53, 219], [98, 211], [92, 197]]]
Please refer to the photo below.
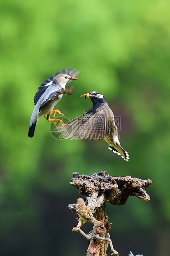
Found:
[[[63, 114], [58, 109], [55, 109], [54, 111], [53, 109], [54, 106], [61, 100], [63, 94], [72, 94], [72, 87], [70, 89], [69, 87], [65, 88], [65, 85], [72, 82], [72, 80], [77, 79], [78, 75], [79, 71], [76, 71], [76, 69], [63, 69], [40, 85], [38, 92], [34, 97], [35, 108], [30, 120], [28, 137], [34, 136], [35, 126], [41, 116], [47, 118], [48, 121], [55, 121], [56, 123], [60, 122], [61, 125], [65, 127], [63, 121], [60, 119], [54, 119], [56, 112], [60, 115]], [[52, 119], [50, 119], [50, 115], [53, 113], [54, 115]]]

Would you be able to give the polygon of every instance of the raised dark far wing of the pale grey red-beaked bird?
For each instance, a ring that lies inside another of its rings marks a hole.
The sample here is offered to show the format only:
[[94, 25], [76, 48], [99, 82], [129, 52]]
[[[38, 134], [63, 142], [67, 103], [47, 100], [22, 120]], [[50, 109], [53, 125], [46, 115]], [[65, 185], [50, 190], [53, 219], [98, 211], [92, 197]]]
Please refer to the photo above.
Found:
[[[40, 99], [41, 95], [45, 92], [45, 90], [49, 87], [49, 85], [51, 85], [51, 83], [54, 80], [54, 77], [56, 77], [59, 74], [67, 74], [69, 76], [74, 76], [77, 77], [79, 75], [79, 71], [77, 69], [72, 69], [70, 67], [68, 67], [67, 69], [63, 69], [62, 71], [58, 71], [55, 75], [50, 76], [50, 78], [47, 78], [46, 81], [44, 81], [42, 83], [42, 85], [40, 85], [40, 87], [38, 88], [38, 92], [35, 94], [34, 97], [34, 104], [36, 105], [38, 100]], [[71, 83], [72, 80], [69, 80], [68, 83]], [[68, 84], [67, 83], [67, 84]]]

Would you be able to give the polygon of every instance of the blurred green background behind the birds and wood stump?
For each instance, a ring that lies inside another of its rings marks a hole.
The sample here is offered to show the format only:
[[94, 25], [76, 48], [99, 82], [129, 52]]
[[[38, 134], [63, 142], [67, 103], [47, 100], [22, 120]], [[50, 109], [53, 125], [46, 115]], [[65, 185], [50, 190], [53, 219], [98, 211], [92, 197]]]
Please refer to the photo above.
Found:
[[[5, 0], [0, 9], [0, 255], [86, 255], [67, 209], [79, 197], [74, 171], [151, 179], [151, 201], [107, 203], [110, 235], [120, 256], [170, 255], [169, 1]], [[80, 95], [101, 92], [121, 116], [129, 162], [106, 142], [56, 140], [43, 117], [28, 137], [37, 88], [68, 66], [80, 74], [57, 108], [72, 119], [92, 107]]]

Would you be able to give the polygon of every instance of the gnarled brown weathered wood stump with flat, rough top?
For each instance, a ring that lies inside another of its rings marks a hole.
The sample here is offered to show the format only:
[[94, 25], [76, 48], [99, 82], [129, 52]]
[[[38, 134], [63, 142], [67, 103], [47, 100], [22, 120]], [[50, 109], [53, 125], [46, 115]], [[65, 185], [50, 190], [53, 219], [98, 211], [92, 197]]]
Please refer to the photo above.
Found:
[[[117, 251], [112, 248], [112, 242], [105, 239], [106, 234], [112, 227], [112, 223], [108, 221], [106, 215], [106, 201], [113, 205], [126, 204], [129, 196], [135, 196], [145, 201], [149, 201], [150, 197], [145, 189], [151, 185], [151, 180], [141, 180], [140, 178], [126, 177], [112, 177], [104, 172], [95, 173], [93, 175], [79, 175], [74, 172], [70, 185], [77, 187], [79, 193], [85, 195], [85, 204], [96, 213], [96, 219], [103, 222], [100, 227], [93, 227], [94, 237], [90, 238], [86, 256], [107, 256], [106, 250], [110, 242], [112, 255], [119, 255]], [[69, 204], [68, 208], [75, 211], [76, 204]], [[80, 232], [86, 237], [86, 234], [78, 228], [73, 228], [73, 232]], [[84, 233], [84, 234], [83, 234]], [[98, 235], [97, 237], [95, 235]], [[104, 241], [105, 239], [105, 241]]]

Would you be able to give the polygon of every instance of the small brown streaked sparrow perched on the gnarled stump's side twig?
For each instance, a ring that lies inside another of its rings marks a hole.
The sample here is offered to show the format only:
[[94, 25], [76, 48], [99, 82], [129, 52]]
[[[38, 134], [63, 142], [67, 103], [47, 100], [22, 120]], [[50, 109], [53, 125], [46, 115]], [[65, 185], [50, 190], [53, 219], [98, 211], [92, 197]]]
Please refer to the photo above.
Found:
[[81, 225], [75, 228], [80, 228], [84, 225], [85, 222], [91, 222], [96, 227], [102, 225], [102, 221], [96, 220], [93, 216], [93, 213], [90, 209], [84, 204], [84, 200], [82, 198], [77, 199], [76, 212], [79, 216], [77, 220], [81, 221]]

